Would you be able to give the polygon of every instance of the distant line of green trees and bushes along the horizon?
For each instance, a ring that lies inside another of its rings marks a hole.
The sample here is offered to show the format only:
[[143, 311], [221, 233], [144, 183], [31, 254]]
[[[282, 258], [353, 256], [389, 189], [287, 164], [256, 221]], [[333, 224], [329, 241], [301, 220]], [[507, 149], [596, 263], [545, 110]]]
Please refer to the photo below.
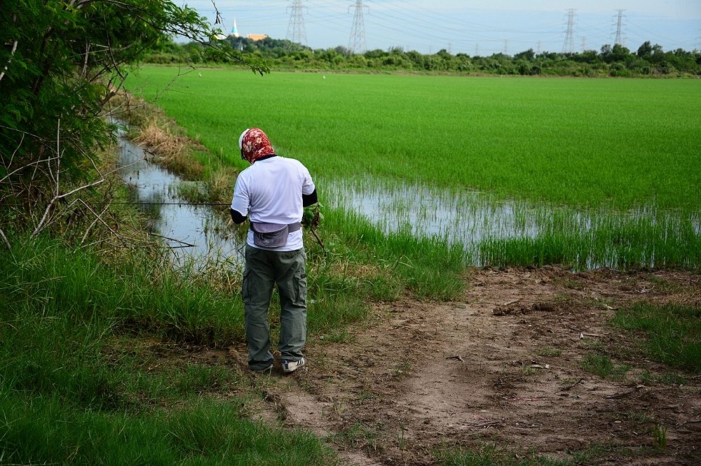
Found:
[[[604, 45], [600, 50], [583, 52], [535, 52], [532, 48], [515, 55], [495, 53], [489, 56], [451, 54], [445, 49], [433, 54], [401, 47], [388, 50], [367, 50], [353, 53], [339, 45], [312, 49], [287, 39], [264, 38], [254, 41], [229, 36], [221, 45], [250, 57], [264, 59], [271, 66], [287, 69], [322, 70], [397, 70], [420, 72], [485, 73], [522, 76], [700, 76], [701, 51], [677, 48], [663, 50], [661, 45], [646, 41], [636, 51], [623, 45]], [[203, 43], [159, 44], [144, 62], [156, 64], [226, 64], [231, 59], [208, 49]]]

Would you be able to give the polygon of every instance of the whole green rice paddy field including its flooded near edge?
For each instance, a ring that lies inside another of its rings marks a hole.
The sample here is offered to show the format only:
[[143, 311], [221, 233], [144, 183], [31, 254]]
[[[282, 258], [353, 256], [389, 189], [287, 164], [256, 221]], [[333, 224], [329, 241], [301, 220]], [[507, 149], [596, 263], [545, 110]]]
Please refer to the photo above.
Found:
[[476, 265], [701, 264], [701, 80], [145, 67], [127, 86], [238, 169], [264, 129], [310, 169], [322, 233]]

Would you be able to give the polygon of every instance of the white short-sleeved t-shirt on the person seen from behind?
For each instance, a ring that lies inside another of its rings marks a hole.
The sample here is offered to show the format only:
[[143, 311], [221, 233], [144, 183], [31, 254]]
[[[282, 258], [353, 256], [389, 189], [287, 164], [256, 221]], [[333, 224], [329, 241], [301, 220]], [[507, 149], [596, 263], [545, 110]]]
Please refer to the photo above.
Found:
[[[301, 222], [304, 213], [302, 195], [311, 195], [315, 186], [309, 171], [299, 160], [275, 156], [257, 160], [241, 171], [233, 188], [231, 209], [252, 222], [285, 225]], [[254, 248], [253, 232], [248, 232], [247, 243]], [[302, 230], [290, 232], [287, 244], [271, 250], [301, 249]]]

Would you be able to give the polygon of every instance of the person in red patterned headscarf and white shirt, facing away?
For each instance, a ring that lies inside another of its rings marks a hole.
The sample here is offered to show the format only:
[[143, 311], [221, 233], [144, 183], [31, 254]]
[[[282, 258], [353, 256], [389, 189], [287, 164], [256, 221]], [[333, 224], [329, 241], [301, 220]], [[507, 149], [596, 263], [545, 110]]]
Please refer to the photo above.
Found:
[[243, 271], [243, 307], [248, 367], [270, 372], [268, 307], [273, 286], [280, 295], [280, 361], [283, 372], [305, 363], [306, 253], [301, 219], [304, 207], [317, 202], [316, 187], [299, 160], [280, 157], [259, 128], [246, 129], [238, 139], [241, 158], [250, 162], [236, 178], [231, 219], [250, 227]]

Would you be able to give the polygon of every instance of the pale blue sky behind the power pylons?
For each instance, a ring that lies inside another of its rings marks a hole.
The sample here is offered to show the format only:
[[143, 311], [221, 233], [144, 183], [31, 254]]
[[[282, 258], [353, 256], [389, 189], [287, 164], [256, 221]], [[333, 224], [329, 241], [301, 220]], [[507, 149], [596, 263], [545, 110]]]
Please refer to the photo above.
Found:
[[[182, 0], [181, 0], [182, 1]], [[292, 38], [293, 1], [213, 0], [222, 31]], [[176, 1], [177, 3], [177, 1]], [[212, 0], [185, 0], [215, 22]], [[532, 48], [536, 52], [600, 50], [620, 39], [635, 52], [645, 41], [666, 50], [701, 50], [701, 0], [362, 0], [362, 28], [354, 31], [358, 0], [301, 0], [306, 41], [311, 48], [366, 50], [402, 48], [421, 53], [492, 55]], [[569, 27], [570, 14], [571, 27]], [[298, 22], [299, 24], [299, 22]], [[571, 31], [571, 34], [568, 34]], [[362, 42], [360, 42], [362, 43]]]

